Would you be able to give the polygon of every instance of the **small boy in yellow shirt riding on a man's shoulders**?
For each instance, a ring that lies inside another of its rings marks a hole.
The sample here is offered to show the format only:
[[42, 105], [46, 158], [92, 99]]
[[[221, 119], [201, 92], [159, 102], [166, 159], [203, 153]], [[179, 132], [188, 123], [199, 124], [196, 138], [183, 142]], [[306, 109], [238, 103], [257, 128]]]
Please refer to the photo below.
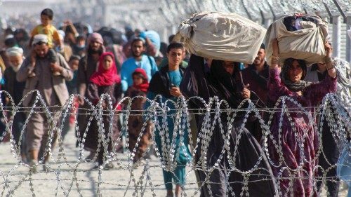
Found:
[[[41, 11], [40, 14], [40, 20], [41, 20], [41, 25], [37, 25], [37, 27], [34, 27], [31, 33], [31, 38], [29, 41], [29, 47], [32, 47], [32, 42], [34, 40], [34, 36], [37, 34], [45, 34], [48, 36], [48, 47], [50, 50], [48, 51], [48, 57], [50, 58], [50, 62], [52, 64], [55, 64], [56, 62], [56, 53], [55, 50], [53, 50], [54, 43], [58, 46], [58, 50], [61, 51], [63, 49], [63, 43], [60, 40], [60, 36], [58, 34], [58, 30], [51, 25], [51, 22], [53, 22], [53, 11], [49, 8], [44, 9], [44, 11]], [[35, 59], [36, 55], [35, 53], [32, 53], [32, 66], [35, 64]], [[54, 75], [59, 75], [59, 73], [54, 73]], [[31, 76], [35, 76], [34, 72], [31, 74]]]

